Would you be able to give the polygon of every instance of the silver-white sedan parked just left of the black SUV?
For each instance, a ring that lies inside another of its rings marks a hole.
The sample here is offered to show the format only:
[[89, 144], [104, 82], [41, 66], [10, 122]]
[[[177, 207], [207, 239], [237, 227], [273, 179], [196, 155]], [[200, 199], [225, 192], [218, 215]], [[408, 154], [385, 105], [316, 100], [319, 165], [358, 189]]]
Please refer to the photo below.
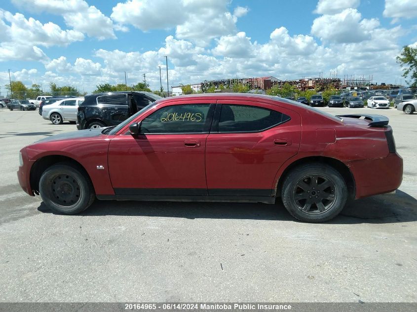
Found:
[[64, 121], [76, 121], [78, 106], [82, 102], [84, 98], [68, 98], [42, 106], [42, 117], [54, 125], [60, 125]]

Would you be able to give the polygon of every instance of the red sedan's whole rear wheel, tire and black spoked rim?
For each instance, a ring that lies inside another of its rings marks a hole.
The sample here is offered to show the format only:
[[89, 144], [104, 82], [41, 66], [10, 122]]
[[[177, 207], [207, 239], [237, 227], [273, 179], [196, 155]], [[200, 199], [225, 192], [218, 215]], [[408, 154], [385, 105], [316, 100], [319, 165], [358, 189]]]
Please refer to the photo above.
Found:
[[321, 163], [312, 163], [296, 167], [285, 177], [281, 198], [285, 208], [296, 219], [325, 222], [341, 212], [348, 191], [346, 182], [337, 170]]

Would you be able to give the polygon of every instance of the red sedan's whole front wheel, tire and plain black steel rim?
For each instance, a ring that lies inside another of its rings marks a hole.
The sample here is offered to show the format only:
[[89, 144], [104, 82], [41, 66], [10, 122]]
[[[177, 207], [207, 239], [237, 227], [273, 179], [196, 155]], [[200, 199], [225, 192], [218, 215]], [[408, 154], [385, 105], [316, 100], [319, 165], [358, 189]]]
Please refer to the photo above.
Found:
[[95, 199], [93, 185], [81, 170], [67, 163], [46, 169], [39, 180], [43, 203], [58, 214], [76, 214], [87, 209]]

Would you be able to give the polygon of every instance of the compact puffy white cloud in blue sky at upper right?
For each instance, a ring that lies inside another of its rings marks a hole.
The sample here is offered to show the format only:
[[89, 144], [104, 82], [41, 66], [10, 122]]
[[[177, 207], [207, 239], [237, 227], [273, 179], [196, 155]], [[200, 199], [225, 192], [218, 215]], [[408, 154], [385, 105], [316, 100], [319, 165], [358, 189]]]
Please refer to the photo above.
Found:
[[371, 27], [377, 27], [378, 20], [362, 20], [356, 9], [345, 9], [335, 15], [322, 15], [313, 21], [311, 34], [322, 41], [361, 42], [370, 37]]

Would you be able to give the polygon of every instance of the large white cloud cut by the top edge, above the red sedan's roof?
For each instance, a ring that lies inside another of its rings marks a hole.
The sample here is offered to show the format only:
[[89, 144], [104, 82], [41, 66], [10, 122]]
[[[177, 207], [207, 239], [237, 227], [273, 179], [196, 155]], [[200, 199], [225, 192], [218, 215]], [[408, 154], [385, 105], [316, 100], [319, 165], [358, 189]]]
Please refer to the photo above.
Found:
[[176, 28], [179, 39], [207, 46], [213, 38], [236, 33], [236, 21], [248, 12], [237, 6], [231, 14], [228, 1], [178, 0], [172, 5], [166, 0], [128, 0], [117, 3], [112, 19], [118, 25], [133, 25], [143, 31]]

